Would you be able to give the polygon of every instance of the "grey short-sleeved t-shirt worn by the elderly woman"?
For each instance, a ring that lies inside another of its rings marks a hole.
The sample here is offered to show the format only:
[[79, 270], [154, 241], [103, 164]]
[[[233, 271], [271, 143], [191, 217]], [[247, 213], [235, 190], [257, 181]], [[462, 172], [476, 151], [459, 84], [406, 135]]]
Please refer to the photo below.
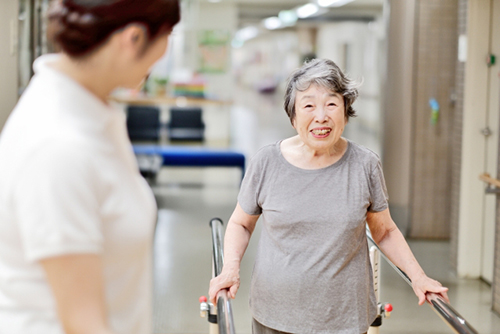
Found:
[[252, 314], [284, 332], [364, 333], [377, 313], [366, 213], [388, 207], [380, 160], [348, 141], [336, 163], [306, 170], [280, 143], [252, 158], [238, 196], [246, 213], [262, 215]]

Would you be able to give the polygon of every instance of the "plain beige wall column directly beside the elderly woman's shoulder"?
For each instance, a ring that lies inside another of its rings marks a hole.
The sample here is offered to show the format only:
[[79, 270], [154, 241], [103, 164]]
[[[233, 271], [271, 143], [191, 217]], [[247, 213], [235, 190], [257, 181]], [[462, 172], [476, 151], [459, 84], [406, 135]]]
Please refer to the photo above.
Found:
[[411, 111], [415, 0], [389, 0], [383, 165], [391, 213], [403, 233], [409, 224]]

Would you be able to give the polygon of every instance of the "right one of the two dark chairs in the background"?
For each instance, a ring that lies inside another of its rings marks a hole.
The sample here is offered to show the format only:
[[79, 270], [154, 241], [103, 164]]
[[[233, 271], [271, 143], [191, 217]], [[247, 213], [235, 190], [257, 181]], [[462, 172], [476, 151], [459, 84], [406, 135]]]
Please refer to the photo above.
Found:
[[168, 138], [171, 141], [203, 141], [205, 123], [200, 107], [170, 108], [170, 123], [167, 125]]

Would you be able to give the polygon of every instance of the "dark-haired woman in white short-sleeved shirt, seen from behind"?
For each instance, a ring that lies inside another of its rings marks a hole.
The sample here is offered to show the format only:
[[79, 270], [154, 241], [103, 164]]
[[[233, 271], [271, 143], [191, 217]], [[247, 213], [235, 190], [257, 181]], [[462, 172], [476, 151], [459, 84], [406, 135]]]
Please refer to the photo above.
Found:
[[59, 0], [62, 52], [0, 138], [0, 333], [152, 332], [156, 203], [107, 102], [165, 53], [178, 0]]

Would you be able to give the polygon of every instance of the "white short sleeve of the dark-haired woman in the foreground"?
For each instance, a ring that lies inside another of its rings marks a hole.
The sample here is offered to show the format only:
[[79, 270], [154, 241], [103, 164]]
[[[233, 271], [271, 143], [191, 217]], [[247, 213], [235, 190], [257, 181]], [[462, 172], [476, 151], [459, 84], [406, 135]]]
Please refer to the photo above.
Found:
[[61, 143], [36, 152], [20, 172], [13, 203], [27, 261], [101, 252], [98, 181], [90, 166], [81, 150]]

